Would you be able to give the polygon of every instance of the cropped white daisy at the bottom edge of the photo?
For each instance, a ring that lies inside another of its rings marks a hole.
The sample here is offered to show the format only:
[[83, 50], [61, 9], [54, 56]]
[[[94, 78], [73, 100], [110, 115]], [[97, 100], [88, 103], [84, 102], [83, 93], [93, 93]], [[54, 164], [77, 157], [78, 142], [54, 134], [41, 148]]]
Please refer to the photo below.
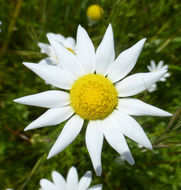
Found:
[[87, 171], [83, 177], [78, 179], [78, 173], [75, 167], [71, 167], [68, 175], [67, 180], [63, 178], [63, 176], [56, 172], [52, 172], [52, 179], [53, 182], [47, 179], [40, 180], [40, 190], [101, 190], [102, 185], [95, 185], [89, 188], [91, 181], [92, 181], [92, 173], [91, 171]]

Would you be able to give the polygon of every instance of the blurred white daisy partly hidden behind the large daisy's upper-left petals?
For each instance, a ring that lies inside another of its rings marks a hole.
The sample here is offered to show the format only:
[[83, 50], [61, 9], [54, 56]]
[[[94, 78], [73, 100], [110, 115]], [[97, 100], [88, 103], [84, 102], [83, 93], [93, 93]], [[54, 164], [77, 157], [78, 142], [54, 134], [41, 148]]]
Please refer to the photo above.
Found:
[[[60, 43], [64, 47], [66, 47], [72, 53], [75, 53], [75, 40], [74, 40], [74, 38], [72, 38], [72, 37], [65, 38], [61, 34], [54, 34], [54, 33], [48, 33], [47, 35], [51, 36], [51, 38], [53, 40], [55, 40], [56, 42]], [[45, 53], [48, 55], [48, 57], [45, 59], [42, 59], [39, 62], [39, 64], [59, 66], [57, 56], [55, 54], [55, 51], [51, 47], [51, 45], [39, 42], [38, 46], [41, 50], [41, 53]]]

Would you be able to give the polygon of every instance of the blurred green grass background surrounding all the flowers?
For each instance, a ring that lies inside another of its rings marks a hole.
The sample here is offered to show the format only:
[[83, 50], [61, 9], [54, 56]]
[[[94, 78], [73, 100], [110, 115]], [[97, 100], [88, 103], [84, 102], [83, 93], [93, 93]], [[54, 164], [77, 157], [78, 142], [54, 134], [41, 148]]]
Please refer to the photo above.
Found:
[[[86, 9], [99, 3], [103, 19], [89, 26]], [[116, 55], [146, 37], [147, 41], [132, 72], [147, 72], [151, 59], [164, 60], [171, 77], [159, 82], [158, 90], [137, 98], [165, 109], [174, 117], [138, 117], [152, 144], [153, 152], [127, 139], [136, 164], [130, 166], [104, 141], [103, 174], [93, 183], [105, 190], [181, 189], [181, 4], [179, 0], [0, 0], [0, 189], [33, 190], [41, 178], [51, 179], [57, 170], [66, 177], [74, 165], [79, 177], [92, 170], [85, 146], [85, 128], [63, 152], [46, 156], [63, 124], [24, 132], [45, 109], [13, 103], [12, 100], [51, 86], [22, 65], [38, 62], [38, 42], [48, 42], [47, 32], [76, 36], [78, 24], [86, 28], [95, 46], [112, 23]]]

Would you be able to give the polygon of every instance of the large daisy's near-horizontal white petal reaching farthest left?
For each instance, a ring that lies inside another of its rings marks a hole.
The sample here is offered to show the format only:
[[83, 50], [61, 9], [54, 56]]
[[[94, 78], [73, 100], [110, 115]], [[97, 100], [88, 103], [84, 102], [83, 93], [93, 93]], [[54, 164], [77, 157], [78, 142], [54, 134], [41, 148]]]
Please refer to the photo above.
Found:
[[17, 98], [14, 100], [14, 102], [44, 108], [55, 108], [68, 105], [70, 103], [69, 96], [69, 93], [63, 91], [50, 90], [38, 94], [24, 96], [22, 98]]

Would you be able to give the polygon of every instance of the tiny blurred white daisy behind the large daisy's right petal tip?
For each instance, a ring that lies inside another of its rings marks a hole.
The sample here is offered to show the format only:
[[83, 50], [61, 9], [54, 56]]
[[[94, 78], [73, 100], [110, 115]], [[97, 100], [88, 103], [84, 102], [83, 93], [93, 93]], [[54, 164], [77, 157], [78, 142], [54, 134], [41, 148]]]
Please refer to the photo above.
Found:
[[[164, 61], [159, 61], [158, 65], [156, 65], [154, 60], [150, 61], [150, 65], [147, 66], [148, 70], [150, 72], [159, 72], [159, 71], [167, 71], [168, 70], [168, 65], [164, 65]], [[169, 72], [166, 72], [160, 79], [160, 81], [165, 82], [166, 78], [170, 76]], [[157, 89], [157, 84], [154, 83], [150, 85], [147, 90], [149, 92], [153, 92]]]

